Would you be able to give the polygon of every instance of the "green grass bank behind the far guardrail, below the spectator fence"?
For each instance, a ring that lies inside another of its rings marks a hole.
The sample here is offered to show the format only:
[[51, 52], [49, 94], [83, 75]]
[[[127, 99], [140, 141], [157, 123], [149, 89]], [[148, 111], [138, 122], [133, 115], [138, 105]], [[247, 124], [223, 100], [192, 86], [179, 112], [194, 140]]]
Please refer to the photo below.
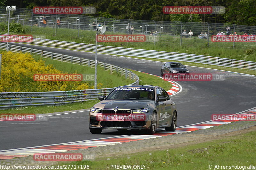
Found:
[[[57, 29], [57, 36], [55, 36], [55, 29], [53, 28], [33, 27], [33, 32], [31, 33], [30, 26], [23, 27], [26, 31], [25, 34], [46, 35], [46, 39], [95, 44], [95, 31], [80, 30], [80, 37], [77, 37], [78, 30], [59, 28]], [[105, 34], [120, 33], [106, 32]], [[134, 32], [134, 34], [139, 33]], [[213, 35], [213, 33], [211, 35]], [[191, 53], [237, 60], [256, 61], [255, 43], [235, 43], [235, 48], [233, 49], [233, 43], [213, 43], [210, 41], [210, 46], [207, 47], [207, 39], [198, 39], [197, 37], [191, 39], [182, 38], [182, 46], [180, 46], [180, 36], [164, 34], [161, 35], [159, 41], [156, 42], [156, 45], [154, 45], [153, 42], [101, 42], [99, 45]]]

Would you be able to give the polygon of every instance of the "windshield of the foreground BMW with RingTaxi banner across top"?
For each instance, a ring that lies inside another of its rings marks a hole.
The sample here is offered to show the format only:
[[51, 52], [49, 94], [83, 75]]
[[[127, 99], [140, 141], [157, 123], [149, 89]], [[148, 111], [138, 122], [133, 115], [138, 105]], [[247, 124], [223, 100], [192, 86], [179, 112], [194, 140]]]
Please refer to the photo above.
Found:
[[107, 100], [154, 100], [154, 89], [116, 88]]

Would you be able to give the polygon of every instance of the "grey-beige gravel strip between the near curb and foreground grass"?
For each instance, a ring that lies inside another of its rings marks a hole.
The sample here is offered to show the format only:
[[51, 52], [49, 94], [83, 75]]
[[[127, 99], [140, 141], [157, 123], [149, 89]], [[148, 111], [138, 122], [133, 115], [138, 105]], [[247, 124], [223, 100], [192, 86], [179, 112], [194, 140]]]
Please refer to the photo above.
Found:
[[[95, 155], [96, 159], [103, 157], [118, 157], [120, 155], [133, 154], [148, 150], [164, 150], [189, 144], [202, 143], [205, 141], [234, 136], [249, 131], [256, 130], [256, 122], [237, 121], [229, 124], [223, 124], [212, 128], [199, 131], [192, 131], [177, 135], [168, 135], [157, 138], [144, 139], [139, 141], [126, 142], [116, 145], [99, 146], [95, 148], [79, 149], [64, 153], [82, 153], [83, 155]], [[104, 152], [104, 153], [103, 153]], [[63, 153], [63, 152], [62, 152]], [[63, 163], [63, 162], [61, 162]], [[66, 162], [68, 163], [68, 161]], [[21, 157], [15, 159], [0, 160], [0, 165], [58, 165], [59, 161], [34, 161], [33, 156]]]

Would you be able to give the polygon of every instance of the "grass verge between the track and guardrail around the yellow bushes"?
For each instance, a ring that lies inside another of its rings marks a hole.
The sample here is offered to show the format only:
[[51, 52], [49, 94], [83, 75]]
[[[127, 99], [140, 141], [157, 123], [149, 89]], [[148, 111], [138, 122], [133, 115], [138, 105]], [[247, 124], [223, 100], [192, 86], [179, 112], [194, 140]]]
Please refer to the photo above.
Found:
[[[66, 63], [70, 64], [70, 63]], [[71, 64], [72, 65], [72, 64]], [[159, 77], [154, 75], [149, 75], [146, 73], [141, 73], [138, 71], [133, 71], [133, 73], [137, 74], [140, 77], [140, 85], [154, 85], [160, 86], [165, 90], [169, 90], [172, 88], [172, 84], [168, 81], [164, 81]], [[98, 103], [99, 100], [89, 100], [85, 102], [79, 103], [70, 103], [60, 106], [29, 106], [29, 107], [19, 107], [7, 110], [0, 110], [0, 114], [6, 113], [33, 113], [33, 114], [43, 114], [43, 113], [53, 113], [53, 112], [60, 112], [60, 111], [69, 111], [69, 110], [79, 110], [79, 109], [88, 109], [91, 108], [94, 104]]]

